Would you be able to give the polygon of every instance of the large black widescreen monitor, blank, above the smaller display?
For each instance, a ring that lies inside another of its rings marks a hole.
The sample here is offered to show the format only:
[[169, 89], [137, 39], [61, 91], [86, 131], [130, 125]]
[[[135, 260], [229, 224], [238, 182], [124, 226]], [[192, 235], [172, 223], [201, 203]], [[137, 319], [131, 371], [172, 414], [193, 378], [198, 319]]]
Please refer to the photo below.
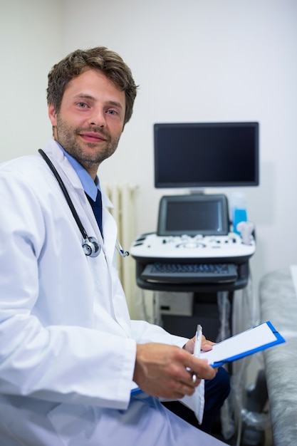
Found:
[[155, 187], [259, 185], [259, 123], [155, 124]]

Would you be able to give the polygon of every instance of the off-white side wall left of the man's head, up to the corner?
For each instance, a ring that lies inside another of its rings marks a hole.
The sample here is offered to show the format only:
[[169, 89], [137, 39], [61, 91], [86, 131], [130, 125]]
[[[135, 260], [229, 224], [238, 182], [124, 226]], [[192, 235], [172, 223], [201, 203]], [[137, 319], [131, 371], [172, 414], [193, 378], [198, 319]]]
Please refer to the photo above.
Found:
[[0, 0], [0, 161], [51, 137], [47, 76], [64, 56], [61, 0]]

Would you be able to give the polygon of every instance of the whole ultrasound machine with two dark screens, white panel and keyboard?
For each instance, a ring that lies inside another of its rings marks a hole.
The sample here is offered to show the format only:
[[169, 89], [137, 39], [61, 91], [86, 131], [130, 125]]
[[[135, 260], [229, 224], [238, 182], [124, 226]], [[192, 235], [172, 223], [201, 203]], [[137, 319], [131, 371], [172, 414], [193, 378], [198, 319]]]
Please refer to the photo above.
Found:
[[[254, 224], [232, 227], [226, 195], [205, 190], [259, 185], [259, 123], [157, 123], [154, 147], [155, 187], [173, 189], [174, 195], [160, 199], [157, 231], [140, 234], [132, 243], [137, 285], [193, 293], [188, 316], [195, 317], [199, 299], [210, 308], [218, 292], [228, 292], [231, 299], [249, 279]], [[163, 307], [165, 328], [192, 336], [187, 318], [183, 321], [169, 306], [166, 311], [166, 302]], [[177, 307], [182, 308], [181, 301]]]

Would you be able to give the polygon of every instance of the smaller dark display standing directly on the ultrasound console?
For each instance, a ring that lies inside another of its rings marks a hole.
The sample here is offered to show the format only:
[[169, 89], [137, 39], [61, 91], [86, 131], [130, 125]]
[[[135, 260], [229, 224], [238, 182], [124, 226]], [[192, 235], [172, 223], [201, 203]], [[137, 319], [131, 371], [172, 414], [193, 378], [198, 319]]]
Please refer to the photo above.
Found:
[[228, 211], [224, 195], [162, 197], [159, 235], [224, 235], [228, 232]]

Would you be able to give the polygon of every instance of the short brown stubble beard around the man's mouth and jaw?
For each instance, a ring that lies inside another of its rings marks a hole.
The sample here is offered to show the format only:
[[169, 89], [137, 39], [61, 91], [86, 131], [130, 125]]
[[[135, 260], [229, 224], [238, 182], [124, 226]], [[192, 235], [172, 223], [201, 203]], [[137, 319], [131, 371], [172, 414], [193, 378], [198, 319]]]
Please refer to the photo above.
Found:
[[[98, 133], [105, 140], [96, 144], [95, 142], [83, 141], [80, 138], [82, 133]], [[101, 162], [109, 158], [118, 147], [120, 135], [111, 137], [100, 127], [92, 128], [72, 128], [66, 124], [60, 116], [57, 116], [56, 139], [64, 150], [78, 160], [83, 167], [98, 168]]]

